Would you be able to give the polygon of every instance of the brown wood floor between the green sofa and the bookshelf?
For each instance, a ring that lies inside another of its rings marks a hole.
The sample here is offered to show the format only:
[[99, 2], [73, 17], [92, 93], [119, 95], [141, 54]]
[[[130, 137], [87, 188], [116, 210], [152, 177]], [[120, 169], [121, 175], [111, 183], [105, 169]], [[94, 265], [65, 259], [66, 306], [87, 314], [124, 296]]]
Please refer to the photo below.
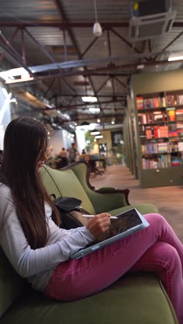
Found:
[[139, 181], [122, 165], [107, 166], [103, 175], [92, 173], [89, 181], [96, 188], [114, 186], [130, 189], [130, 204], [155, 204], [183, 243], [183, 186], [139, 188]]

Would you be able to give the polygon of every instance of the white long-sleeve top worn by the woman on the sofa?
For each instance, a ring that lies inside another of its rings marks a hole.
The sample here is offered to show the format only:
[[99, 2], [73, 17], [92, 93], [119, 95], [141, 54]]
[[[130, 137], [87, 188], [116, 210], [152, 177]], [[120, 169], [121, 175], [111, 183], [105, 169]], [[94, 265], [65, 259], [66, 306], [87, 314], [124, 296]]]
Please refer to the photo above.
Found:
[[10, 188], [0, 183], [0, 245], [19, 276], [28, 278], [33, 288], [40, 291], [44, 291], [60, 262], [94, 241], [85, 226], [71, 230], [59, 228], [51, 219], [52, 209], [48, 204], [45, 213], [49, 239], [46, 246], [33, 250], [17, 217]]

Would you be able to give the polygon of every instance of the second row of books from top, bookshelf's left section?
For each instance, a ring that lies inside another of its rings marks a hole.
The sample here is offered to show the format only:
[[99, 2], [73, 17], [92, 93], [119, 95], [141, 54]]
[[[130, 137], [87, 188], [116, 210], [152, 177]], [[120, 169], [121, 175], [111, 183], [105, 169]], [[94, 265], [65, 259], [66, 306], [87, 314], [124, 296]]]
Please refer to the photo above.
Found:
[[161, 123], [166, 122], [165, 111], [154, 111], [148, 114], [138, 114], [139, 124]]

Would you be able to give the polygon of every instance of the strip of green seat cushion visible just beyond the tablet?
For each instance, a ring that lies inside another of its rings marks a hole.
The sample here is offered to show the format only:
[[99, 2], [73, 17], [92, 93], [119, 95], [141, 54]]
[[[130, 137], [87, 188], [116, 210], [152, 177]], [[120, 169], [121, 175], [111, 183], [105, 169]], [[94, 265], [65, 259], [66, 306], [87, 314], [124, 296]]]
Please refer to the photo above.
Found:
[[157, 207], [153, 204], [139, 204], [139, 205], [125, 206], [113, 210], [108, 210], [108, 213], [110, 213], [112, 216], [115, 216], [132, 208], [136, 208], [137, 210], [139, 210], [139, 213], [141, 213], [141, 215], [146, 215], [149, 213], [158, 213]]

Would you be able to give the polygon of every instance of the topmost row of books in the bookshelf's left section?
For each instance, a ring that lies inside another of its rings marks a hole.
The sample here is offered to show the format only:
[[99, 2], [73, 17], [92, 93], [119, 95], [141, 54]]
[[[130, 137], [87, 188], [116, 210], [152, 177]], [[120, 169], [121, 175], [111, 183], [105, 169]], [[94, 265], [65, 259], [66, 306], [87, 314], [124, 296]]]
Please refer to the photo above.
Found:
[[166, 107], [166, 100], [164, 97], [156, 98], [143, 98], [143, 96], [137, 97], [137, 109], [148, 109], [148, 108], [158, 108]]

